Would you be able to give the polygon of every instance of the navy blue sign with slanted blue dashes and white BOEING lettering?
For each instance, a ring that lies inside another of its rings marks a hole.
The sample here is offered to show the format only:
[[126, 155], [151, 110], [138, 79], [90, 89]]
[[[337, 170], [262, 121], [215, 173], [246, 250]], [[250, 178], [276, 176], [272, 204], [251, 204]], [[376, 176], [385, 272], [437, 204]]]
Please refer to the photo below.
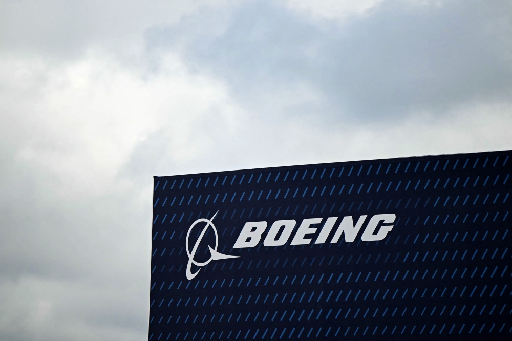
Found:
[[155, 177], [149, 339], [510, 339], [509, 154]]

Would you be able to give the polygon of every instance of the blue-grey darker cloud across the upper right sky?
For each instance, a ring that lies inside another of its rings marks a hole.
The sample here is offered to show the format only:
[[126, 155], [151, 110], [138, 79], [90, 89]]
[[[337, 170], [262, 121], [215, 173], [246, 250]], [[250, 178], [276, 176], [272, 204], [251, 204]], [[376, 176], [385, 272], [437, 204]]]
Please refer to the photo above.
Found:
[[498, 1], [389, 1], [341, 23], [251, 2], [188, 16], [150, 41], [180, 48], [191, 67], [226, 79], [250, 105], [307, 83], [322, 96], [298, 112], [386, 121], [508, 102], [511, 22], [512, 6]]

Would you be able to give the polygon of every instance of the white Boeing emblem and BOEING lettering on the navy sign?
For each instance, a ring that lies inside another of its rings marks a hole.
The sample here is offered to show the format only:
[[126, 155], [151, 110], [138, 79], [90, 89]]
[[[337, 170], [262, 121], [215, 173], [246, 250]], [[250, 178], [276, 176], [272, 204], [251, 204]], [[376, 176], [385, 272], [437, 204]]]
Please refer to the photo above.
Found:
[[[185, 249], [188, 254], [188, 263], [186, 269], [186, 275], [188, 280], [194, 279], [195, 276], [199, 273], [199, 270], [195, 273], [191, 272], [190, 267], [192, 266], [192, 264], [202, 267], [207, 265], [211, 261], [240, 257], [217, 252], [219, 237], [217, 235], [217, 229], [215, 228], [215, 225], [212, 223], [212, 220], [214, 220], [215, 216], [217, 216], [217, 213], [213, 217], [211, 217], [210, 220], [204, 218], [196, 220], [192, 225], [190, 225], [188, 229], [187, 237], [185, 240]], [[366, 215], [360, 216], [355, 224], [352, 216], [343, 217], [338, 227], [336, 228], [330, 242], [337, 243], [340, 237], [342, 236], [342, 233], [345, 234], [345, 242], [353, 242], [356, 239], [359, 231], [361, 230], [361, 227], [364, 225], [367, 217], [368, 216]], [[361, 241], [379, 241], [384, 239], [388, 235], [388, 232], [390, 232], [393, 229], [393, 225], [390, 224], [392, 224], [395, 221], [395, 218], [396, 216], [393, 213], [374, 215], [366, 225], [364, 232], [362, 232]], [[315, 244], [324, 244], [328, 240], [337, 220], [338, 217], [327, 218], [327, 220], [324, 223], [324, 226], [318, 233], [318, 236], [316, 236], [316, 240], [314, 242]], [[298, 229], [295, 232], [295, 235], [293, 236], [290, 245], [310, 244], [311, 241], [313, 240], [312, 237], [316, 235], [316, 231], [318, 229], [316, 227], [311, 227], [311, 225], [320, 224], [322, 223], [322, 221], [323, 218], [303, 219], [301, 224], [298, 226]], [[203, 227], [203, 230], [201, 231], [199, 238], [197, 239], [196, 244], [194, 245], [192, 251], [189, 251], [188, 238], [190, 236], [190, 231], [194, 228], [194, 226], [201, 222], [206, 223], [206, 225]], [[265, 236], [265, 240], [263, 241], [263, 245], [281, 246], [286, 244], [296, 224], [297, 222], [294, 219], [275, 221], [268, 230], [267, 235]], [[211, 257], [206, 262], [199, 263], [194, 260], [194, 255], [196, 254], [196, 251], [199, 247], [199, 243], [201, 242], [208, 227], [211, 227], [215, 232], [215, 248], [211, 248], [208, 245]], [[245, 223], [244, 227], [242, 228], [242, 231], [240, 232], [240, 235], [238, 236], [237, 241], [233, 245], [233, 248], [248, 248], [257, 246], [260, 243], [262, 235], [266, 229], [266, 221], [255, 221]]]

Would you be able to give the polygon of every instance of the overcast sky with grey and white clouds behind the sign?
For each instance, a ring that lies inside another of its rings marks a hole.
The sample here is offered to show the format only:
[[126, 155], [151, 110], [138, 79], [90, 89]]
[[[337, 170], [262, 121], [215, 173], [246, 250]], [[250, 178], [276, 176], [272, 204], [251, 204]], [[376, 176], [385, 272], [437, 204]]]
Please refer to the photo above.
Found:
[[0, 339], [147, 339], [153, 175], [510, 131], [509, 1], [0, 0]]

